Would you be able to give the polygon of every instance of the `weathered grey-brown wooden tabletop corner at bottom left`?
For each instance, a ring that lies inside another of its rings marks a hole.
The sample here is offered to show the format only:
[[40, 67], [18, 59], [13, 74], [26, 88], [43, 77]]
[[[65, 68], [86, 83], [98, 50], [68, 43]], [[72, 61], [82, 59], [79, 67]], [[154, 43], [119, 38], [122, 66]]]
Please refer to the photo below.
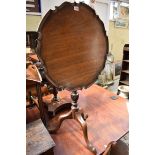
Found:
[[54, 146], [41, 119], [26, 125], [26, 155], [54, 155]]

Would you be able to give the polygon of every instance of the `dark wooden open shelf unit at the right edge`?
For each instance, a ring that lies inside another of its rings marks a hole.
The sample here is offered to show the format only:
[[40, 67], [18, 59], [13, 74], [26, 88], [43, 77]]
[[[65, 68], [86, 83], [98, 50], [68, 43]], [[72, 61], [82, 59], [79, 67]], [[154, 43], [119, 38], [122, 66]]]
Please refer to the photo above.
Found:
[[129, 86], [129, 44], [125, 44], [123, 48], [123, 60], [119, 85]]

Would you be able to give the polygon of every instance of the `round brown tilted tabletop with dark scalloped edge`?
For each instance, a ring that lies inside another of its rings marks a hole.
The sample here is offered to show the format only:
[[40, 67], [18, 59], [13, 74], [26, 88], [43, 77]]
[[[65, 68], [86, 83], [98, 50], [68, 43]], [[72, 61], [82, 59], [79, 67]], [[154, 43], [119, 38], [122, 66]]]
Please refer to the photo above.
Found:
[[38, 34], [37, 54], [53, 85], [75, 90], [95, 82], [105, 65], [108, 38], [91, 7], [64, 2], [45, 15]]

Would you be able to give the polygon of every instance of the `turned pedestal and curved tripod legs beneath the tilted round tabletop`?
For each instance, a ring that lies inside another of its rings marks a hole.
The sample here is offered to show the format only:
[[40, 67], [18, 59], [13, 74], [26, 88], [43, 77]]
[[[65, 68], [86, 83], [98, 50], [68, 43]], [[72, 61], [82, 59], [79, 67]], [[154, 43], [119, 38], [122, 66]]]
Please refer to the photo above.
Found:
[[[84, 136], [84, 140], [87, 144], [87, 148], [93, 152], [94, 154], [96, 154], [96, 149], [95, 147], [91, 144], [91, 142], [88, 139], [88, 132], [87, 132], [87, 123], [86, 123], [86, 119], [88, 118], [88, 115], [85, 115], [83, 110], [81, 108], [79, 108], [77, 101], [79, 98], [79, 94], [77, 91], [73, 91], [71, 93], [71, 109], [68, 110], [66, 113], [64, 114], [58, 114], [57, 117], [53, 117], [53, 119], [50, 120], [50, 123], [48, 123], [48, 131], [50, 133], [56, 132], [62, 122], [66, 119], [75, 119], [81, 126], [82, 131], [83, 131], [83, 136]], [[54, 120], [54, 121], [53, 121]]]

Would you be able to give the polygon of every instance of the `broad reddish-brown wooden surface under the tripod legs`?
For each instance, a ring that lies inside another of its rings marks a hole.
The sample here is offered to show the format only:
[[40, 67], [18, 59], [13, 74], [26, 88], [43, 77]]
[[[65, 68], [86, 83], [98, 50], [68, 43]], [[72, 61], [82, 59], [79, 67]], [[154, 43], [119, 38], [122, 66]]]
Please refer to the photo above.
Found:
[[[97, 85], [79, 91], [79, 94], [79, 105], [89, 115], [89, 139], [96, 147], [97, 154], [101, 154], [109, 142], [117, 141], [128, 132], [126, 100], [121, 97], [111, 99], [115, 94]], [[59, 96], [70, 98], [70, 93], [63, 91]], [[28, 113], [31, 113], [30, 110]], [[33, 114], [38, 117], [36, 108]], [[27, 119], [32, 120], [32, 116], [27, 116]], [[75, 120], [65, 120], [58, 132], [51, 136], [56, 143], [55, 155], [92, 155], [86, 148], [82, 130]]]

